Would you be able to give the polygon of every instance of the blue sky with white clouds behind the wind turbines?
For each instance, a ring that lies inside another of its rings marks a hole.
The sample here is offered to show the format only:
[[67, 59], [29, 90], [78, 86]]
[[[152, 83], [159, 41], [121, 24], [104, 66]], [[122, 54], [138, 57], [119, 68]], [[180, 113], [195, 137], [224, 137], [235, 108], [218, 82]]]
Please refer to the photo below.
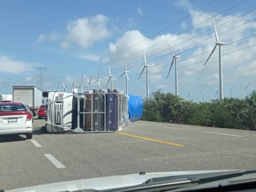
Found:
[[[149, 93], [162, 89], [175, 93], [175, 65], [167, 78], [172, 54], [177, 59], [179, 95], [188, 99], [217, 99], [219, 49], [204, 66], [215, 45], [212, 17], [220, 42], [223, 92], [234, 87], [233, 97], [245, 96], [256, 87], [256, 2], [254, 0], [174, 1], [0, 1], [0, 94], [12, 93], [12, 85], [39, 86], [43, 71], [44, 90], [63, 84], [92, 88], [100, 69], [101, 88], [108, 82], [108, 64], [113, 88], [146, 97], [145, 50], [149, 68]], [[168, 42], [168, 44], [166, 43]], [[185, 51], [186, 50], [186, 51]], [[183, 52], [184, 51], [184, 52]], [[227, 87], [228, 86], [228, 87]], [[110, 84], [108, 84], [108, 88]], [[80, 90], [81, 88], [79, 88]], [[80, 91], [81, 92], [81, 91]]]

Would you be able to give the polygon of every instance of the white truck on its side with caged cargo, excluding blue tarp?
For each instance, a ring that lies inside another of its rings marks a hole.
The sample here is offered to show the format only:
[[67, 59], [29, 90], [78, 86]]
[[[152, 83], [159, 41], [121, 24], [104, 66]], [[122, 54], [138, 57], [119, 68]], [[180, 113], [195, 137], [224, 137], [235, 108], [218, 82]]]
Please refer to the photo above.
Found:
[[43, 97], [47, 97], [47, 132], [119, 132], [130, 123], [129, 96], [117, 89], [43, 92]]

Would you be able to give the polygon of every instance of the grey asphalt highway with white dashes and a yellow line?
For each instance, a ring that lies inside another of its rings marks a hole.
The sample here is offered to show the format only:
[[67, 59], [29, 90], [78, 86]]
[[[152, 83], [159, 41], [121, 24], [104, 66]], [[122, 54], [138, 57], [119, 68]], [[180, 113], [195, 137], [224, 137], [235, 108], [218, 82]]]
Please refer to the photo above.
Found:
[[255, 169], [256, 132], [137, 121], [120, 133], [0, 136], [0, 189], [144, 172]]

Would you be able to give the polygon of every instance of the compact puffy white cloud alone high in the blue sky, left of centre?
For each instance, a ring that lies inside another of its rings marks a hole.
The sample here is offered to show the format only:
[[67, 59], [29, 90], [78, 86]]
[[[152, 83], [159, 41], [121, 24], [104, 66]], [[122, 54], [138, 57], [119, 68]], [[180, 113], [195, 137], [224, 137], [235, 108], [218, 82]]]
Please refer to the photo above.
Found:
[[108, 38], [111, 35], [107, 29], [108, 21], [107, 16], [98, 14], [68, 22], [68, 42], [87, 48], [99, 40]]

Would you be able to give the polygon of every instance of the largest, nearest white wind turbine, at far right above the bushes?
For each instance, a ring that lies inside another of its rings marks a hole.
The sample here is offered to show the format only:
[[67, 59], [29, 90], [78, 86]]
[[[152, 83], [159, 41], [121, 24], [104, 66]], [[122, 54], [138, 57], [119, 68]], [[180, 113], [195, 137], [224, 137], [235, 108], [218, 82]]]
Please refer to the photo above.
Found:
[[215, 46], [214, 46], [211, 54], [209, 55], [208, 59], [205, 61], [204, 66], [205, 66], [206, 62], [212, 56], [212, 53], [215, 51], [216, 47], [219, 45], [219, 82], [220, 82], [220, 99], [222, 100], [223, 99], [223, 79], [222, 79], [221, 45], [228, 45], [228, 44], [225, 44], [224, 42], [219, 42], [218, 33], [217, 33], [217, 30], [216, 30], [214, 18], [212, 18], [212, 19], [213, 19], [216, 42], [215, 42]]

